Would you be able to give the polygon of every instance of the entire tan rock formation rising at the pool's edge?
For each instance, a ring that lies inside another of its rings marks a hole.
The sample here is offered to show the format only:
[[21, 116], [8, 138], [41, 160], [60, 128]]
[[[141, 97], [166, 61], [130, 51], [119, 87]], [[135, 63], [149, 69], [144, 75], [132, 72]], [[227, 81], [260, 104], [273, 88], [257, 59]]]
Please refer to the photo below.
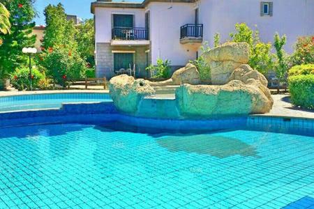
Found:
[[[198, 85], [199, 72], [188, 64], [165, 82], [119, 75], [110, 80], [110, 95], [117, 109], [141, 117], [211, 118], [267, 113], [273, 105], [268, 82], [246, 64], [248, 52], [246, 43], [227, 43], [205, 54], [212, 82], [222, 85]], [[155, 93], [151, 86], [166, 85], [181, 85], [175, 100], [144, 98]]]

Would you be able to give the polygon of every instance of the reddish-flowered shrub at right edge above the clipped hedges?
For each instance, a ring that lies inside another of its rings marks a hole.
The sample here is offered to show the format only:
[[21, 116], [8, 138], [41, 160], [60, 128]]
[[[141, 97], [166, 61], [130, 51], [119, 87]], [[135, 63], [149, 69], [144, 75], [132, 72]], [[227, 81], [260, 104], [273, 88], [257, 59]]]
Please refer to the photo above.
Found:
[[314, 63], [314, 36], [298, 38], [291, 56], [292, 65]]

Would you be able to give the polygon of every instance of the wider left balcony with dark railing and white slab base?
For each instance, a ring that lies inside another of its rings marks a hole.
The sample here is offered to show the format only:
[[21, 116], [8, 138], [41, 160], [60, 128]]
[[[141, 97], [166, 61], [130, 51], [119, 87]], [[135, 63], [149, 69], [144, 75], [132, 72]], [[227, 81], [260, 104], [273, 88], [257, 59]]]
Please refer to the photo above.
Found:
[[111, 45], [149, 45], [147, 28], [114, 27]]

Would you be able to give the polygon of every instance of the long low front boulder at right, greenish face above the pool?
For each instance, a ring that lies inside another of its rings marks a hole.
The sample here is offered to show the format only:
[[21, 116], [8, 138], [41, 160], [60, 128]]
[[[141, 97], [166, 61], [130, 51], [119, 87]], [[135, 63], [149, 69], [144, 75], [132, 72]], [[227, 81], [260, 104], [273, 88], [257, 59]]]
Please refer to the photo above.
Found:
[[244, 84], [234, 80], [223, 86], [185, 84], [177, 88], [176, 99], [182, 116], [215, 117], [262, 114], [273, 104], [259, 81]]

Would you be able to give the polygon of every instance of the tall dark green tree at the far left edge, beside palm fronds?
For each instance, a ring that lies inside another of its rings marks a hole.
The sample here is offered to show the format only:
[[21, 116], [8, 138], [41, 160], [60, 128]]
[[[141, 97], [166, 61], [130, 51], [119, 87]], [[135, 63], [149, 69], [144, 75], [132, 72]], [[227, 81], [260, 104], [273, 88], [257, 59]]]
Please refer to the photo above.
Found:
[[23, 47], [32, 47], [36, 36], [31, 36], [36, 13], [33, 0], [3, 1], [10, 12], [11, 33], [0, 34], [3, 44], [0, 47], [0, 78], [7, 78], [11, 72], [27, 64], [27, 56], [22, 53]]

